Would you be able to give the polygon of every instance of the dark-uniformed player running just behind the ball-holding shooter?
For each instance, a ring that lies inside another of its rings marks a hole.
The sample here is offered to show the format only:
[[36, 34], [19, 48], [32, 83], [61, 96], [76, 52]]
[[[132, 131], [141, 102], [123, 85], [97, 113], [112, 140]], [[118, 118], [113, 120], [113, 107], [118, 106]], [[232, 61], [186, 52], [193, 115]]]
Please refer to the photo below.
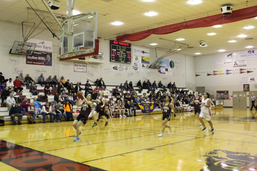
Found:
[[104, 124], [104, 126], [107, 126], [107, 124], [108, 124], [108, 120], [107, 119], [109, 119], [109, 115], [108, 114], [106, 114], [106, 113], [104, 113], [104, 109], [105, 109], [105, 98], [103, 97], [103, 92], [101, 91], [100, 92], [100, 96], [98, 96], [97, 98], [96, 98], [96, 103], [97, 103], [97, 105], [96, 105], [96, 109], [95, 109], [95, 111], [94, 111], [94, 113], [93, 113], [93, 116], [94, 116], [94, 124], [92, 125], [92, 127], [94, 127], [94, 126], [97, 126], [97, 123], [96, 123], [96, 119], [98, 118], [98, 115], [97, 115], [97, 113], [100, 115], [100, 117], [102, 116], [102, 118], [105, 120], [105, 124]]

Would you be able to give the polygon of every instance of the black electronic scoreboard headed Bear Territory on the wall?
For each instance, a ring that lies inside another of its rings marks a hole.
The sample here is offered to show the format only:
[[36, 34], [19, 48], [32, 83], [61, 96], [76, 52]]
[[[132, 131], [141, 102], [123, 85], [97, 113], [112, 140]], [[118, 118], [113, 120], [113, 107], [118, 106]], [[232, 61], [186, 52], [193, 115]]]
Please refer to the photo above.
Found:
[[119, 41], [110, 41], [111, 62], [131, 63], [131, 44]]

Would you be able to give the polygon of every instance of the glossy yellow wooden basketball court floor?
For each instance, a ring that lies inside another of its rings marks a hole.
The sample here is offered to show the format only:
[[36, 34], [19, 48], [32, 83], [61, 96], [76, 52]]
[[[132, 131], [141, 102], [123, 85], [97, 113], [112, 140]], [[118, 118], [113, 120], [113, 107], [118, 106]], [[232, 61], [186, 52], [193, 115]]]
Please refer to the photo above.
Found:
[[[207, 122], [207, 129], [201, 131], [194, 113], [186, 112], [171, 118], [168, 125], [173, 125], [172, 133], [166, 128], [163, 137], [157, 137], [162, 114], [153, 114], [113, 118], [106, 127], [100, 119], [98, 126], [92, 128], [93, 120], [90, 120], [81, 126], [82, 136], [78, 142], [73, 142], [72, 122], [1, 126], [0, 139], [14, 143], [8, 150], [28, 147], [93, 166], [90, 170], [256, 171], [257, 111], [224, 108], [212, 110], [212, 114], [213, 133], [207, 130], [210, 129]], [[16, 156], [15, 161], [14, 158], [3, 160], [8, 158], [8, 152], [0, 149], [0, 170], [41, 171], [37, 163], [46, 160], [23, 160], [26, 167], [18, 164], [15, 167], [14, 163], [19, 163], [22, 157]], [[7, 154], [5, 158], [1, 156], [3, 153]], [[42, 171], [76, 170], [52, 169]]]

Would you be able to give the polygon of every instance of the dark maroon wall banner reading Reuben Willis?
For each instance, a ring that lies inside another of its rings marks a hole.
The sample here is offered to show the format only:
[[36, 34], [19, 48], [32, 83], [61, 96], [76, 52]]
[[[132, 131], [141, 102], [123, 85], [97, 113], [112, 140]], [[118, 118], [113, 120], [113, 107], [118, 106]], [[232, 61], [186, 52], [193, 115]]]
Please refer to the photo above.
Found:
[[52, 66], [52, 53], [35, 50], [32, 56], [26, 56], [26, 64]]

